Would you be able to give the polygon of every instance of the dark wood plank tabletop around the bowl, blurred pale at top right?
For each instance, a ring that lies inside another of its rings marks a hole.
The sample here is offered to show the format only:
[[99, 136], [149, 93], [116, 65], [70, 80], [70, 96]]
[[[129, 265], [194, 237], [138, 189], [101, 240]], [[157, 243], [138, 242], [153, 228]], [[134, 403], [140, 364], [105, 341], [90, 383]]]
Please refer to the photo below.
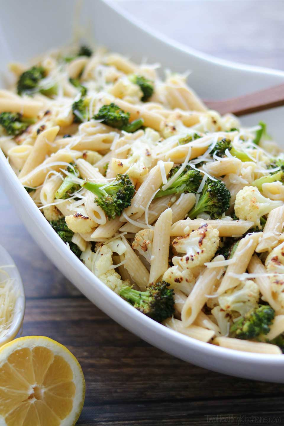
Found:
[[[189, 46], [222, 58], [284, 69], [281, 0], [119, 3]], [[2, 190], [0, 200], [0, 243], [16, 262], [26, 291], [22, 335], [58, 340], [83, 368], [86, 400], [77, 425], [284, 423], [284, 385], [207, 371], [124, 330], [57, 271]]]

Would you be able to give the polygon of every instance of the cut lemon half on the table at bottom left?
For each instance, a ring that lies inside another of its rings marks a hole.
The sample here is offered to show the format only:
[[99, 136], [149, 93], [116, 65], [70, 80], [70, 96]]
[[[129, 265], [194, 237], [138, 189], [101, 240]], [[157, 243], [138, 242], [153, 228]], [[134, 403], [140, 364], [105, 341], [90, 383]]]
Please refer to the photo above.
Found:
[[84, 398], [82, 368], [55, 340], [20, 337], [0, 348], [0, 426], [72, 426]]

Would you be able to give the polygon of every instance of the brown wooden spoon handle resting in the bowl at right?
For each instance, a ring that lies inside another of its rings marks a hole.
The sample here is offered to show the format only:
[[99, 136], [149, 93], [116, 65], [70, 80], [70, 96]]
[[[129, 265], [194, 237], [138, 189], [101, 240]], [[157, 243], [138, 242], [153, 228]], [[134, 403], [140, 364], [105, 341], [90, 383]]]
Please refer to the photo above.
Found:
[[204, 103], [209, 109], [215, 109], [222, 115], [231, 112], [238, 116], [281, 107], [284, 105], [284, 84], [238, 98], [231, 98], [225, 101], [204, 101]]

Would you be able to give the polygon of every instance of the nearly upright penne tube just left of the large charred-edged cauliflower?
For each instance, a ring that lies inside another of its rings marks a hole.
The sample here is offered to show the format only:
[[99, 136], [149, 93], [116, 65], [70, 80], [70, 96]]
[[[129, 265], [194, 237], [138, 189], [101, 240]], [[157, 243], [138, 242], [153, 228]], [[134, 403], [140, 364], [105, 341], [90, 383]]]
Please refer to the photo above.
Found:
[[168, 208], [158, 218], [152, 243], [149, 284], [155, 283], [168, 269], [169, 241], [172, 226], [172, 209]]

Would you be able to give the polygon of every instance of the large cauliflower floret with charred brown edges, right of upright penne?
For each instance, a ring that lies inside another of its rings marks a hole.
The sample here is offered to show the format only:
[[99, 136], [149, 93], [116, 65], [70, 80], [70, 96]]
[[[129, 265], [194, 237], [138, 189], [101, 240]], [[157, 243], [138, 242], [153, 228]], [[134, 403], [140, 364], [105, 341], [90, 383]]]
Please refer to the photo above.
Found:
[[186, 253], [185, 256], [174, 256], [172, 263], [183, 269], [204, 265], [210, 262], [219, 246], [219, 231], [205, 223], [196, 231], [173, 240], [172, 246], [177, 253]]

